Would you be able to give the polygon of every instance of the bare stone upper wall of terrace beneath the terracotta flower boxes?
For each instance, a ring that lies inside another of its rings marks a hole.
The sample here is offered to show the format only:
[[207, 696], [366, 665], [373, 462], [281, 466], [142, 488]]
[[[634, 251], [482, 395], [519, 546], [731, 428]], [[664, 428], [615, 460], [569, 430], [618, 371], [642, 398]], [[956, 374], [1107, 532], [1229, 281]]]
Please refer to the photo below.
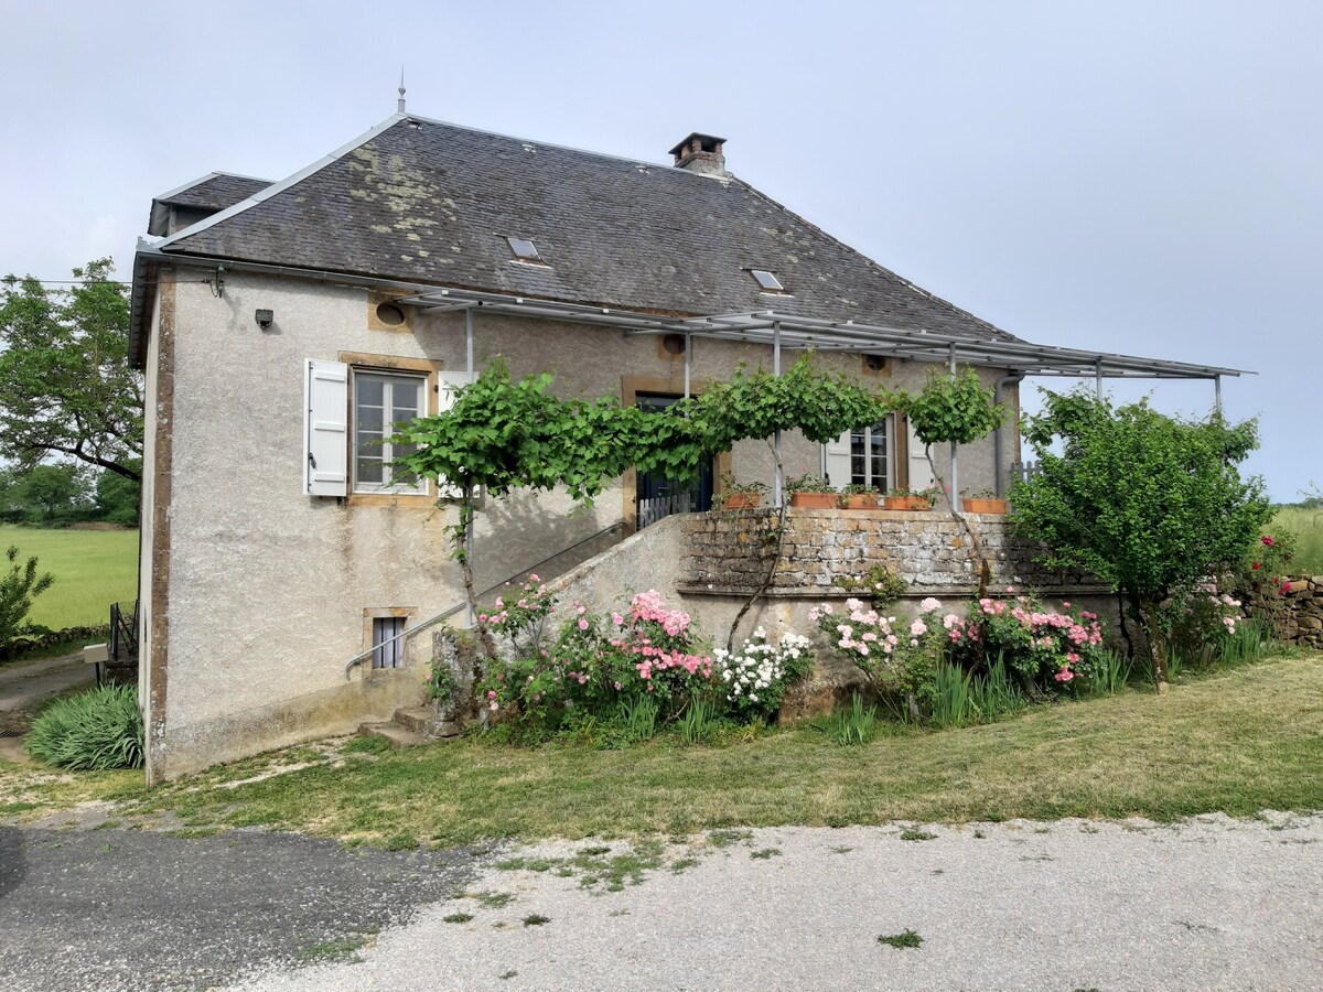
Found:
[[[1035, 565], [1037, 549], [1016, 540], [1003, 516], [970, 515], [992, 556], [998, 590], [1032, 587], [1045, 595], [1102, 594], [1106, 587], [1077, 573]], [[684, 517], [680, 579], [687, 594], [741, 594], [766, 577], [777, 553], [774, 509], [695, 513]], [[837, 579], [886, 566], [909, 583], [909, 595], [964, 597], [978, 583], [968, 536], [949, 513], [791, 509], [774, 597], [845, 595]]]

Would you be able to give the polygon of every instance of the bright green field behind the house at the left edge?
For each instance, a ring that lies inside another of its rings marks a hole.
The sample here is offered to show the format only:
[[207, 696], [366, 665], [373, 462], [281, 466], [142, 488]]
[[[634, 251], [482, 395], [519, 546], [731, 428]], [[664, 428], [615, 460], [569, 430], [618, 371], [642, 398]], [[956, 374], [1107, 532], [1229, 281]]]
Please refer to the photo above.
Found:
[[56, 577], [37, 597], [28, 619], [52, 630], [110, 622], [110, 604], [138, 597], [136, 530], [38, 530], [0, 526], [0, 550], [19, 548], [20, 561], [37, 556], [37, 569]]

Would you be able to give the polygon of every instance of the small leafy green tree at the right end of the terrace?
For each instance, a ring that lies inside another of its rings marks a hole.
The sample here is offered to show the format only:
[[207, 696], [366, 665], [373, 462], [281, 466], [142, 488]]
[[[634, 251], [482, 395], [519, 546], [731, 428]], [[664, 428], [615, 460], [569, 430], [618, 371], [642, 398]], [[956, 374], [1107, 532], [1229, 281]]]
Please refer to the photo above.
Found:
[[1091, 571], [1130, 603], [1164, 692], [1162, 603], [1234, 566], [1273, 516], [1262, 480], [1237, 468], [1257, 425], [1179, 421], [1147, 399], [1113, 409], [1084, 390], [1044, 397], [1025, 421], [1039, 468], [1011, 491], [1012, 524], [1046, 546], [1043, 563]]

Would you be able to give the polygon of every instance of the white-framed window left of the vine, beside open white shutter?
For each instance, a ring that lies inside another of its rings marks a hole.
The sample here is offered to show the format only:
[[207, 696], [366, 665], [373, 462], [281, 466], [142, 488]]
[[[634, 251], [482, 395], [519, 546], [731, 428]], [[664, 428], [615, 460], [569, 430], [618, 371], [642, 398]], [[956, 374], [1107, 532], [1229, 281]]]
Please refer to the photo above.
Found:
[[353, 491], [426, 495], [427, 483], [392, 462], [413, 451], [413, 444], [390, 440], [400, 425], [427, 413], [423, 376], [353, 372]]

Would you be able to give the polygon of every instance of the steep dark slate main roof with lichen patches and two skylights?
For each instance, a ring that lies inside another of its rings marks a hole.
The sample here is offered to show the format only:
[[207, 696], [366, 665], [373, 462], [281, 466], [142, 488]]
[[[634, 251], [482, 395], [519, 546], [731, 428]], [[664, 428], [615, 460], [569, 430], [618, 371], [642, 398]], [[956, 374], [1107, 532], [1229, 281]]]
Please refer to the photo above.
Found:
[[[187, 194], [233, 196], [233, 179]], [[546, 267], [512, 262], [507, 237], [532, 239]], [[161, 249], [667, 315], [775, 308], [1017, 340], [736, 177], [419, 118], [386, 122]], [[791, 295], [759, 292], [750, 269]]]

